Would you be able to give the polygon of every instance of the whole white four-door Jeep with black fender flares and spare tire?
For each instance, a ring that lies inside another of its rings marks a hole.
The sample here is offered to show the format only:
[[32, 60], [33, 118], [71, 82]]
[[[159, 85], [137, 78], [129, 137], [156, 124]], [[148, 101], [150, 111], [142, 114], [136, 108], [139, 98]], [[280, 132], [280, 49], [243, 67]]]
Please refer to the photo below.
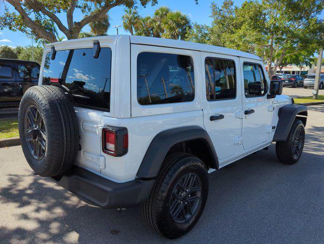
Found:
[[154, 231], [178, 238], [202, 214], [208, 172], [272, 142], [282, 163], [299, 160], [307, 109], [281, 93], [241, 51], [136, 36], [53, 43], [20, 103], [21, 146], [37, 174], [102, 208], [143, 204]]

